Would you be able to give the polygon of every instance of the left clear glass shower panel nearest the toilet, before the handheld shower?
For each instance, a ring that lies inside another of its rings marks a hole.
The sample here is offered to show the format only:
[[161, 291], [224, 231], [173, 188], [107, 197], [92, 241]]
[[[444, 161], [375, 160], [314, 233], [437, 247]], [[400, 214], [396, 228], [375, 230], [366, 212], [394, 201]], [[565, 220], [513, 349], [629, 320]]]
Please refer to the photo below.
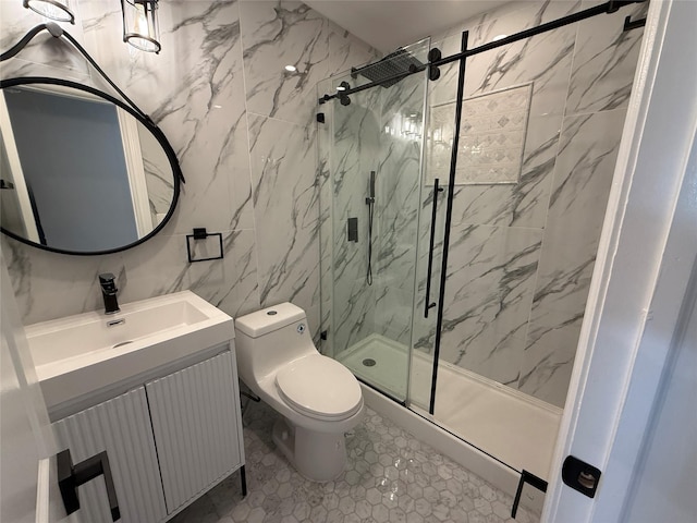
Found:
[[431, 220], [421, 183], [427, 72], [350, 97], [342, 90], [419, 66], [428, 51], [425, 39], [318, 84], [320, 94], [339, 95], [319, 109], [322, 348], [402, 403], [419, 302], [417, 260]]

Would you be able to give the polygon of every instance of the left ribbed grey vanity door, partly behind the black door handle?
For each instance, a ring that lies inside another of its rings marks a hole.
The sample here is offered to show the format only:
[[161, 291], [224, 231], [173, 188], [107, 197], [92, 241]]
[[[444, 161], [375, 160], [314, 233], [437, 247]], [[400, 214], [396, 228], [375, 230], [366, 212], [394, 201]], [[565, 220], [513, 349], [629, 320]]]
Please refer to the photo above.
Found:
[[[107, 451], [122, 523], [167, 518], [145, 388], [119, 396], [53, 424], [73, 463]], [[78, 487], [82, 521], [111, 523], [103, 477]]]

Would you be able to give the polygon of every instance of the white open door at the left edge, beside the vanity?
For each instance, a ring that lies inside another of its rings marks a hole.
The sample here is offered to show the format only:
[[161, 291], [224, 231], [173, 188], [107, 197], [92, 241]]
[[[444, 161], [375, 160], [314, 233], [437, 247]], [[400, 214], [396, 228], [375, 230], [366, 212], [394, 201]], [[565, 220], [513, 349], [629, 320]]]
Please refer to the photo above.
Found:
[[0, 265], [0, 521], [76, 522], [58, 492], [56, 442], [1, 253]]

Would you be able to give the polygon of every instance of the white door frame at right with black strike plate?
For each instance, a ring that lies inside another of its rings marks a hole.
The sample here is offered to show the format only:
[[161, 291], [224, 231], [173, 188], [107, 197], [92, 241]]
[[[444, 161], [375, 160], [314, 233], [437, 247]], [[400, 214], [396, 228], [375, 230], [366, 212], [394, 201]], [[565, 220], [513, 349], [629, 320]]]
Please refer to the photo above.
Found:
[[[662, 484], [650, 482], [659, 489], [655, 502], [667, 509], [662, 514], [669, 519], [661, 521], [683, 523], [682, 515], [668, 514], [687, 514], [686, 522], [697, 518], [697, 471], [689, 470], [696, 462], [694, 440], [680, 454], [685, 435], [697, 434], [695, 398], [682, 399], [683, 419], [661, 415], [674, 411], [665, 403], [667, 391], [697, 379], [694, 368], [674, 372], [675, 361], [695, 362], [697, 351], [688, 330], [697, 293], [696, 22], [695, 1], [651, 1], [546, 522], [644, 521], [633, 513], [636, 496], [646, 496], [638, 490], [650, 488], [641, 476], [665, 473], [663, 464], [651, 465], [649, 454], [675, 464]], [[685, 351], [692, 351], [689, 357]], [[675, 438], [656, 441], [657, 425], [671, 417]], [[562, 483], [566, 455], [602, 472], [595, 498]]]

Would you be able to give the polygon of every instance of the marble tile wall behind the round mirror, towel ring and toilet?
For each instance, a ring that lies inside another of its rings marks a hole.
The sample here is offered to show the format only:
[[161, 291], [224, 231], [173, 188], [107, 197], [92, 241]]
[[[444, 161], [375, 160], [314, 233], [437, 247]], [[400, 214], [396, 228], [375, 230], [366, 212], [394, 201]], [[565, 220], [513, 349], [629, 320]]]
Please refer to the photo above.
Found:
[[[0, 2], [4, 50], [42, 22]], [[168, 1], [162, 51], [121, 40], [119, 2], [81, 0], [65, 28], [158, 122], [186, 184], [164, 230], [123, 253], [65, 256], [2, 239], [25, 324], [100, 307], [101, 271], [129, 302], [192, 289], [231, 315], [291, 300], [319, 323], [315, 84], [374, 56], [365, 42], [295, 1]], [[50, 40], [50, 41], [49, 41]], [[283, 70], [297, 65], [296, 74]], [[61, 41], [40, 37], [2, 77], [44, 74], [103, 85]], [[221, 231], [225, 257], [189, 265], [184, 235]]]

